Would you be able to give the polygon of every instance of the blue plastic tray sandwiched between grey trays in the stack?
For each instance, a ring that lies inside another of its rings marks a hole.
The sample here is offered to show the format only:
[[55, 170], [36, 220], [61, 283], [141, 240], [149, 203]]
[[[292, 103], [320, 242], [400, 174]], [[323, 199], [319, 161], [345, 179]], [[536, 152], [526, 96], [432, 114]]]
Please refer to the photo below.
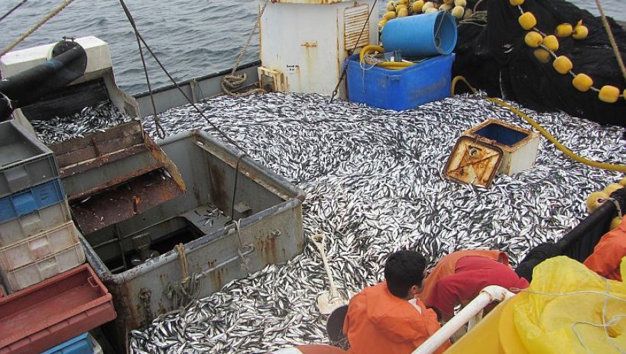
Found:
[[30, 214], [65, 199], [61, 180], [55, 178], [0, 199], [0, 223]]

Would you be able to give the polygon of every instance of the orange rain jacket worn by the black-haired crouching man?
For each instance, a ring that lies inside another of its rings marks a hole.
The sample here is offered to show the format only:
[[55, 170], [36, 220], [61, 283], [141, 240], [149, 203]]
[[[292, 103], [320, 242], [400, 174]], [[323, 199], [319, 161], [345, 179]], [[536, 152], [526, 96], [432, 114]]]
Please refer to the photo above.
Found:
[[[418, 309], [419, 308], [419, 309]], [[344, 333], [353, 354], [410, 354], [440, 328], [437, 314], [422, 301], [396, 297], [387, 282], [366, 287], [348, 304]], [[435, 353], [443, 353], [450, 343]]]

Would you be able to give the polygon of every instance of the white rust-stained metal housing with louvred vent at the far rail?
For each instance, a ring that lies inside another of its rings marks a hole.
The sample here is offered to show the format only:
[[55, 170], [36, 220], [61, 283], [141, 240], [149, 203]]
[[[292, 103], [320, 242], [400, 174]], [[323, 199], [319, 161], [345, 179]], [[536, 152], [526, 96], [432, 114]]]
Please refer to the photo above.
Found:
[[[262, 67], [282, 73], [287, 92], [331, 94], [357, 40], [358, 47], [378, 44], [378, 8], [372, 6], [374, 0], [268, 2], [259, 31]], [[343, 87], [339, 96], [345, 98]]]

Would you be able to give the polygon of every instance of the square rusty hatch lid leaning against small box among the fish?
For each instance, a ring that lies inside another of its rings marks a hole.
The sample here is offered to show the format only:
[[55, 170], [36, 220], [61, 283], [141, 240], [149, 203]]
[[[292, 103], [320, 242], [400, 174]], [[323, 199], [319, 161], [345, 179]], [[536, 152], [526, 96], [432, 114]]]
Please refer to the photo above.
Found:
[[489, 187], [502, 160], [497, 146], [460, 137], [444, 167], [444, 175], [460, 183]]

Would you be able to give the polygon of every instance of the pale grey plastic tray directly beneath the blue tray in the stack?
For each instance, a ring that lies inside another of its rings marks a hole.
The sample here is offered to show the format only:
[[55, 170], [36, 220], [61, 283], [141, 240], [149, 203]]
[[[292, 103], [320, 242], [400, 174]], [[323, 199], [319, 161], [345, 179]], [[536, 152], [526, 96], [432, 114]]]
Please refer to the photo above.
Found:
[[61, 201], [31, 214], [16, 217], [0, 224], [0, 247], [9, 246], [49, 230], [55, 225], [72, 220], [67, 201]]

